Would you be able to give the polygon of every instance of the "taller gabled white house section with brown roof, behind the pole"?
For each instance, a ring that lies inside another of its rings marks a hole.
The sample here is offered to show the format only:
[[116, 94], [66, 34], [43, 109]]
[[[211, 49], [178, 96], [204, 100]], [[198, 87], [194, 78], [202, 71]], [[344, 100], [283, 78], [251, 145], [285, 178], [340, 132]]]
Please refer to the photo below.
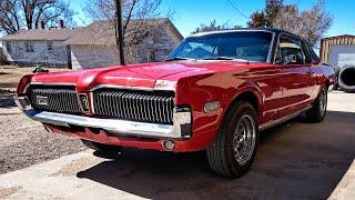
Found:
[[[128, 29], [134, 29], [140, 20], [132, 20]], [[130, 63], [162, 61], [182, 40], [182, 34], [168, 18], [151, 19], [149, 33], [139, 44], [125, 51]], [[108, 21], [97, 21], [68, 39], [73, 69], [114, 66], [120, 62], [115, 30]]]

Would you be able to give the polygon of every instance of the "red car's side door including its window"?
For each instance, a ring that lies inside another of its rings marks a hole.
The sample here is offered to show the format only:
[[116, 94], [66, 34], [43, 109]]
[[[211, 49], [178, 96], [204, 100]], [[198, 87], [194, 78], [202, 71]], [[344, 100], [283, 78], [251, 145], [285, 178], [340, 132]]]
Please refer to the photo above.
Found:
[[280, 118], [303, 110], [311, 101], [315, 84], [312, 63], [303, 42], [288, 34], [281, 34], [275, 63], [282, 70], [282, 102]]

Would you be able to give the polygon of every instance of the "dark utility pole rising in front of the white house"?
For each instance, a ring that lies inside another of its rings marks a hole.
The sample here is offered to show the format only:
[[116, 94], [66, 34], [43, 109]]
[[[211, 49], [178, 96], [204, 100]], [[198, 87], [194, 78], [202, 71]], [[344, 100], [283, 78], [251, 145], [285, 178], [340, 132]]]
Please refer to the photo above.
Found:
[[122, 3], [121, 0], [115, 0], [115, 38], [116, 46], [120, 50], [120, 63], [124, 66], [124, 38], [123, 38], [123, 28], [122, 28]]

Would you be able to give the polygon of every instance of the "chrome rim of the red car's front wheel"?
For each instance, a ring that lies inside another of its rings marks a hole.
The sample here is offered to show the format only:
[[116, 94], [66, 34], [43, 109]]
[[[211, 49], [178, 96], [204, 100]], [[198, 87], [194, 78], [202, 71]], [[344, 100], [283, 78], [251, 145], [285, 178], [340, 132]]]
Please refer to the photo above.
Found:
[[253, 156], [256, 143], [255, 122], [251, 116], [243, 116], [234, 130], [233, 151], [239, 164], [244, 166]]

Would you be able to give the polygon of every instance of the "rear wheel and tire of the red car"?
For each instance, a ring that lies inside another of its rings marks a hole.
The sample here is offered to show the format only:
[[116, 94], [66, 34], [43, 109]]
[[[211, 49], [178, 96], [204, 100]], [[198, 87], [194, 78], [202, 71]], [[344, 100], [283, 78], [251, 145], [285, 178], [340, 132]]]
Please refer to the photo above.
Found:
[[313, 107], [306, 111], [306, 118], [310, 122], [316, 123], [324, 120], [327, 108], [327, 87], [322, 87], [317, 99], [313, 103]]

